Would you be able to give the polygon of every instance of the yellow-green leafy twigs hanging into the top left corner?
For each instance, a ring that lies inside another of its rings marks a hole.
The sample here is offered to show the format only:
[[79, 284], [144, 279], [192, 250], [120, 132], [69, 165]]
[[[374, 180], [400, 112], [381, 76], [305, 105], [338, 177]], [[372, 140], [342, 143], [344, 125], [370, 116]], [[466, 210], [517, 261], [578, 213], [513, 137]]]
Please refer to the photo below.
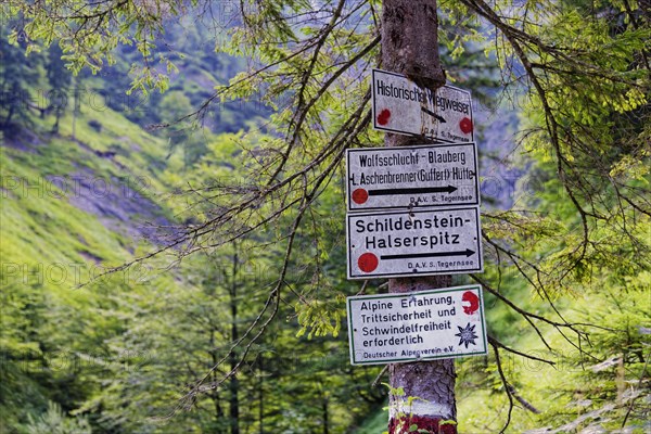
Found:
[[[153, 41], [164, 34], [163, 20], [181, 11], [182, 7], [174, 2], [46, 1], [39, 8], [29, 8], [24, 2], [9, 1], [7, 8], [10, 14], [21, 14], [27, 22], [24, 28], [13, 29], [10, 40], [29, 35], [28, 52], [40, 51], [41, 42], [49, 46], [59, 40], [64, 59], [76, 74], [86, 67], [95, 74], [105, 63], [116, 63], [114, 50], [118, 44], [133, 46], [146, 66], [132, 66], [136, 78], [131, 89], [148, 92], [151, 88], [164, 91], [168, 87], [167, 74], [175, 65], [168, 55], [154, 52], [156, 44]], [[159, 66], [167, 74], [159, 73]]]

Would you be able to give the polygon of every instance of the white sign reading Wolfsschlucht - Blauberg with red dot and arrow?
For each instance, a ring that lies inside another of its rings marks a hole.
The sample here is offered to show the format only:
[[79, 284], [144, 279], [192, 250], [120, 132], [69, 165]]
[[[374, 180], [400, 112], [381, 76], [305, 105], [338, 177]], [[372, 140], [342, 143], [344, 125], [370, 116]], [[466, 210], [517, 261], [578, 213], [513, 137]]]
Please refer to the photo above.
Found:
[[349, 149], [348, 210], [478, 205], [475, 143]]

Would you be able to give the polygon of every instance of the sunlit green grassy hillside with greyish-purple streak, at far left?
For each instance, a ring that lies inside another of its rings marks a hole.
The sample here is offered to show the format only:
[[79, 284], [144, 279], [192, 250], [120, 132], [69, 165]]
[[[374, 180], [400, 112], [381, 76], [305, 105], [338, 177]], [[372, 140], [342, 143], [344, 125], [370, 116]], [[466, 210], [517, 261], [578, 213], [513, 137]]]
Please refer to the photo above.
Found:
[[[88, 126], [97, 118], [102, 123], [100, 135]], [[113, 194], [128, 196], [127, 189], [133, 188], [155, 199], [163, 184], [148, 162], [162, 159], [163, 141], [110, 110], [99, 114], [82, 106], [75, 140], [71, 138], [69, 114], [62, 119], [59, 136], [43, 132], [50, 122], [38, 122], [40, 143], [28, 145], [27, 151], [15, 149], [20, 138], [11, 140], [14, 148], [7, 143], [1, 148], [7, 200], [2, 206], [0, 252], [4, 258], [27, 263], [62, 258], [78, 261], [85, 259], [81, 252], [92, 252], [114, 264], [124, 260], [125, 246], [132, 240], [106, 228], [100, 221], [101, 215], [84, 212], [72, 202], [81, 197], [102, 202]], [[114, 158], [95, 154], [108, 146], [119, 148], [120, 154]], [[146, 189], [140, 188], [145, 184]]]

